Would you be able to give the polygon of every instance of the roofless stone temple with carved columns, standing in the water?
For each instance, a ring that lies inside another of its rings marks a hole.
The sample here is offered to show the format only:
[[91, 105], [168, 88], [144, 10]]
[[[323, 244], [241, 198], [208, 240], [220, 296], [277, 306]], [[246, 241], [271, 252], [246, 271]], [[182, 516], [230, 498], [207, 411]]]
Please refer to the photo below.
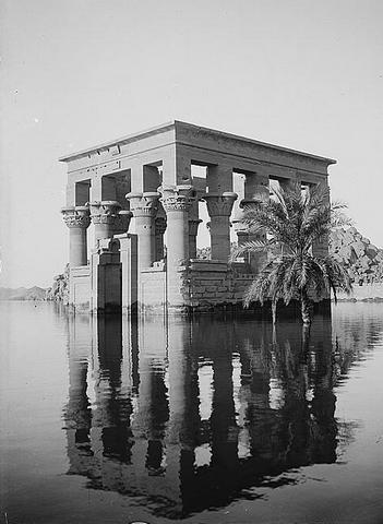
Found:
[[[68, 165], [62, 215], [70, 235], [70, 306], [159, 313], [238, 307], [267, 255], [228, 264], [231, 225], [239, 243], [251, 238], [241, 223], [243, 206], [268, 199], [271, 180], [326, 182], [335, 163], [180, 121], [60, 162]], [[196, 259], [201, 205], [210, 216], [211, 260]]]

